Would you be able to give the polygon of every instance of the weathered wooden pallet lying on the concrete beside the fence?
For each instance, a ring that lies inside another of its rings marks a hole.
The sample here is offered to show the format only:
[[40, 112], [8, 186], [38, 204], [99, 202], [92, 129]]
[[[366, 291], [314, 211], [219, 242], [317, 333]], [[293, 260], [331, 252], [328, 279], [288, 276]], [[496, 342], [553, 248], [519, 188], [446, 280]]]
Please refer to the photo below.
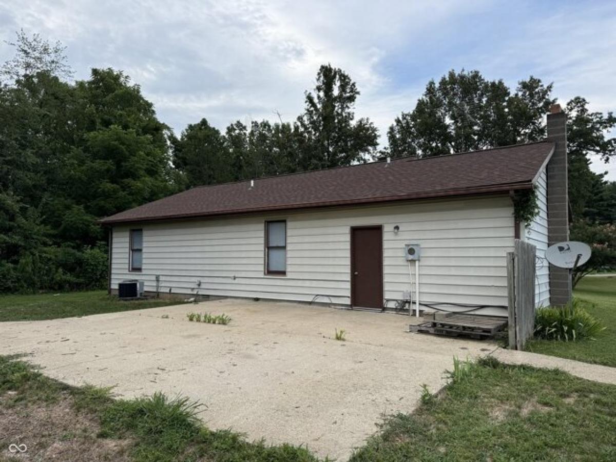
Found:
[[503, 318], [446, 313], [418, 326], [411, 325], [409, 331], [453, 337], [492, 338], [506, 325], [507, 320]]

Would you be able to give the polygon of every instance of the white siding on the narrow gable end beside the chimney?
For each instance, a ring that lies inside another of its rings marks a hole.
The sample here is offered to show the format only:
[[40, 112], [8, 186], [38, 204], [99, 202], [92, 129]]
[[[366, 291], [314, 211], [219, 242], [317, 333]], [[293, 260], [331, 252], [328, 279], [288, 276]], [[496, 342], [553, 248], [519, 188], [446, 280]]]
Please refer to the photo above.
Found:
[[545, 169], [541, 172], [535, 184], [539, 213], [524, 229], [525, 240], [537, 247], [537, 267], [535, 276], [535, 305], [549, 305], [549, 267], [545, 259], [548, 248], [548, 198], [547, 177]]

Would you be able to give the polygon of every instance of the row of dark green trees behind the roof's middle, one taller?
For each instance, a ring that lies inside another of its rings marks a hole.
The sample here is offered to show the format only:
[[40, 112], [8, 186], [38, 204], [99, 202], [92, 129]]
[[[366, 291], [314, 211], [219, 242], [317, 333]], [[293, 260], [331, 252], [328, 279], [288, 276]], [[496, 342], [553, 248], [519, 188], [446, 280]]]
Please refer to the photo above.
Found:
[[378, 131], [355, 120], [359, 90], [341, 69], [323, 65], [306, 108], [294, 123], [237, 121], [221, 134], [203, 119], [172, 137], [173, 165], [182, 187], [255, 179], [366, 161], [375, 153]]

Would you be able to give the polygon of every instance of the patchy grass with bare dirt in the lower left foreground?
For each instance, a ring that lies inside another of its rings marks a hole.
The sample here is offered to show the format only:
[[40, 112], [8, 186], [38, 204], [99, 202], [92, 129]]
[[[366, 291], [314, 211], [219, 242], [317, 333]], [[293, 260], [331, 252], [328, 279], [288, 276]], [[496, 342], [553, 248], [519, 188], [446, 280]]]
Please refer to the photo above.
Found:
[[[248, 442], [211, 431], [207, 410], [162, 394], [115, 400], [94, 387], [75, 388], [25, 362], [0, 357], [0, 460], [75, 461], [316, 461], [306, 448]], [[19, 440], [18, 440], [19, 439]], [[26, 459], [7, 451], [25, 444]]]

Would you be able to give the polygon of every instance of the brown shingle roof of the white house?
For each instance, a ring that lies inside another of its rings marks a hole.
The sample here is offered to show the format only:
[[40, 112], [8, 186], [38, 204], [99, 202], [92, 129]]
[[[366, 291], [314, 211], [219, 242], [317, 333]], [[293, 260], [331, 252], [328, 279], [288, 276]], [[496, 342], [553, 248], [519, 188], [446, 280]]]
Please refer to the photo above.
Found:
[[553, 150], [536, 142], [424, 159], [201, 186], [100, 220], [102, 224], [274, 211], [530, 188]]

